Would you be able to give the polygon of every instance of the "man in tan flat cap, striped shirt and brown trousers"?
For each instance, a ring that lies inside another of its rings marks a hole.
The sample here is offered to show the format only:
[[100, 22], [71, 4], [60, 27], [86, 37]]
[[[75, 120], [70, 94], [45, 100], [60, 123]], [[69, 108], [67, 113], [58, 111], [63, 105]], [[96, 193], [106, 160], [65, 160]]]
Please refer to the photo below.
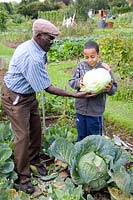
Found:
[[46, 169], [40, 162], [41, 120], [35, 92], [80, 98], [85, 93], [71, 93], [55, 87], [45, 69], [47, 52], [59, 35], [57, 27], [44, 19], [33, 23], [33, 38], [19, 45], [4, 77], [2, 104], [14, 132], [14, 161], [19, 177], [20, 190], [32, 194], [30, 164], [40, 175]]

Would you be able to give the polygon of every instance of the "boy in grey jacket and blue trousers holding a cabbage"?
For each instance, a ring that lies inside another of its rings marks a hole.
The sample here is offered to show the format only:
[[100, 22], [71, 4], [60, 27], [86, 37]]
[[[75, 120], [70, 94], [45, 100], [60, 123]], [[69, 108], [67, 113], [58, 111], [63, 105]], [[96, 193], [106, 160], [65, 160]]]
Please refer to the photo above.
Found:
[[89, 135], [102, 135], [103, 132], [103, 113], [105, 110], [106, 95], [114, 95], [117, 90], [111, 69], [107, 64], [99, 61], [99, 46], [95, 41], [89, 40], [83, 48], [84, 61], [80, 62], [75, 70], [73, 78], [69, 84], [73, 89], [80, 90], [83, 84], [83, 76], [92, 69], [105, 68], [109, 71], [112, 82], [100, 94], [91, 94], [86, 99], [76, 99], [76, 127], [78, 131], [77, 141]]

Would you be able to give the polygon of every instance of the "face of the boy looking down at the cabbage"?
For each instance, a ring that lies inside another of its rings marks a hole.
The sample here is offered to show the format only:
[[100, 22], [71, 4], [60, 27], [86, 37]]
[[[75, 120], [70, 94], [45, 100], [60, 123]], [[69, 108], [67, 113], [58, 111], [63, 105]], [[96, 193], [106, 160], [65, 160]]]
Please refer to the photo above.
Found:
[[83, 54], [86, 62], [91, 67], [95, 67], [99, 59], [99, 53], [96, 52], [96, 49], [84, 49]]

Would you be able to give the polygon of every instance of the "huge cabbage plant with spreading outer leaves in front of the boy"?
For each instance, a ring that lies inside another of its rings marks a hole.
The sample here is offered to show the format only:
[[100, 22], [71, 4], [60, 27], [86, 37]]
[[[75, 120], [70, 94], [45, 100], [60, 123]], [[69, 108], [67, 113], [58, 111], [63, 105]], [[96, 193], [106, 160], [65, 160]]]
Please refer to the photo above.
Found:
[[130, 154], [104, 136], [88, 136], [75, 145], [60, 138], [52, 143], [50, 152], [68, 164], [72, 180], [77, 185], [98, 191], [113, 183], [122, 192], [133, 193], [133, 173], [126, 169]]

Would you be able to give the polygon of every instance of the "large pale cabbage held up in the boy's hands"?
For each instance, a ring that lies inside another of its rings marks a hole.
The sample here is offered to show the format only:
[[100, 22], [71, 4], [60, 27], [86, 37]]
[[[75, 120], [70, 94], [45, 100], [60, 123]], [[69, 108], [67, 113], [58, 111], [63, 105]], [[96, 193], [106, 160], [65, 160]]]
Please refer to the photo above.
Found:
[[100, 93], [111, 82], [110, 73], [104, 68], [92, 69], [85, 73], [80, 91]]

